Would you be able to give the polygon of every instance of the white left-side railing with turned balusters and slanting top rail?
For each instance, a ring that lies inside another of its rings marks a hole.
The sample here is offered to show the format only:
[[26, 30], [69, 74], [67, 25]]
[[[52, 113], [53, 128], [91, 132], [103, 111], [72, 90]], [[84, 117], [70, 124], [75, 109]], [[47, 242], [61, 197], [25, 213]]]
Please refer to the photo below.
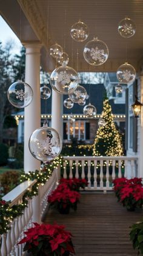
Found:
[[[47, 196], [56, 187], [58, 182], [57, 169], [53, 171], [52, 177], [44, 185], [39, 185], [38, 196], [28, 200], [24, 213], [15, 218], [7, 233], [0, 235], [1, 247], [0, 256], [21, 256], [23, 255], [23, 244], [17, 244], [24, 238], [24, 232], [32, 227], [33, 222], [40, 222], [41, 216], [47, 206]], [[25, 191], [30, 190], [36, 180], [25, 181], [14, 188], [10, 193], [2, 197], [5, 201], [11, 201], [10, 206], [20, 204]], [[38, 221], [39, 220], [39, 221]]]

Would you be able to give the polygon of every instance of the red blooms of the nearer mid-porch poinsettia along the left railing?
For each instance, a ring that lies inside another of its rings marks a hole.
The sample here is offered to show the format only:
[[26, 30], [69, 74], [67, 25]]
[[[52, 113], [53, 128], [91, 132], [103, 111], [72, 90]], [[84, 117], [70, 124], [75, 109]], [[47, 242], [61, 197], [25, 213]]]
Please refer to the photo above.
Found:
[[[80, 194], [77, 191], [70, 190], [66, 183], [61, 183], [56, 190], [48, 196], [48, 203], [50, 205], [62, 204], [62, 207], [65, 208], [67, 205], [72, 207], [73, 204], [79, 202]], [[58, 205], [56, 205], [58, 208]]]

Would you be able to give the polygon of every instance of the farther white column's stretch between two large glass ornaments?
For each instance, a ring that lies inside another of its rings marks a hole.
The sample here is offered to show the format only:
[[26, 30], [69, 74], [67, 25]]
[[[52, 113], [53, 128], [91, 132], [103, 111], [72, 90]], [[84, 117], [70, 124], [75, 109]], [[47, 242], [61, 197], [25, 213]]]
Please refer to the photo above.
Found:
[[63, 96], [60, 93], [52, 90], [52, 128], [57, 130], [62, 138], [63, 124], [62, 124], [62, 113], [63, 113]]

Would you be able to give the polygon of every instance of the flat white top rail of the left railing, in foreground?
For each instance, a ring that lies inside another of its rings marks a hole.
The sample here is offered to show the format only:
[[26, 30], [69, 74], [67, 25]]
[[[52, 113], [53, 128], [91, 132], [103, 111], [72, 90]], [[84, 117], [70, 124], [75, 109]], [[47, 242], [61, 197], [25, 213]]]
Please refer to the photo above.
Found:
[[10, 206], [16, 204], [19, 199], [23, 196], [25, 191], [32, 187], [36, 183], [36, 180], [26, 180], [25, 182], [22, 182], [19, 184], [16, 188], [11, 190], [9, 193], [5, 194], [5, 196], [2, 197], [5, 201], [11, 201]]

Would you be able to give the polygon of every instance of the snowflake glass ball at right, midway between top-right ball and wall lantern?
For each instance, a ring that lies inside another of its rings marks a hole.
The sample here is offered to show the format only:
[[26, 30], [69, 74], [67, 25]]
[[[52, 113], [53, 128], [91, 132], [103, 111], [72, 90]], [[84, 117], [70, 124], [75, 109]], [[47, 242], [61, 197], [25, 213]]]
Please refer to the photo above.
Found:
[[116, 75], [120, 83], [129, 84], [135, 81], [136, 70], [133, 66], [125, 62], [119, 66]]

